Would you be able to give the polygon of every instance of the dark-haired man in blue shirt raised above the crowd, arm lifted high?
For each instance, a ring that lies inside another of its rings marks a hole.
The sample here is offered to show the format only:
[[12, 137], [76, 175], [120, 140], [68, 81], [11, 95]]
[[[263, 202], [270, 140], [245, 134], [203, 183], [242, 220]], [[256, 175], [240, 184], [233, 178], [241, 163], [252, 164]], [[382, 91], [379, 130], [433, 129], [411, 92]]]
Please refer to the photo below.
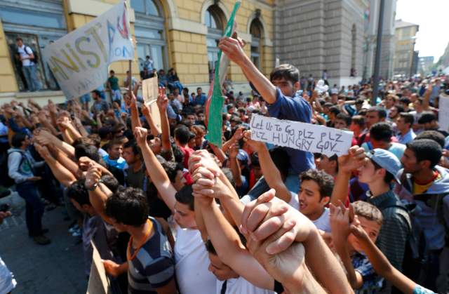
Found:
[[[290, 121], [311, 122], [311, 107], [309, 102], [300, 95], [296, 95], [300, 90], [300, 71], [293, 65], [280, 65], [273, 69], [270, 80], [255, 67], [242, 48], [241, 41], [232, 38], [223, 38], [219, 48], [227, 57], [235, 62], [248, 81], [253, 83], [257, 92], [267, 102], [269, 115], [277, 119], [288, 119]], [[310, 152], [297, 149], [286, 148], [290, 157], [290, 180], [295, 179], [295, 183], [287, 187], [292, 192], [299, 189], [298, 175], [309, 168], [315, 168], [314, 156]]]

